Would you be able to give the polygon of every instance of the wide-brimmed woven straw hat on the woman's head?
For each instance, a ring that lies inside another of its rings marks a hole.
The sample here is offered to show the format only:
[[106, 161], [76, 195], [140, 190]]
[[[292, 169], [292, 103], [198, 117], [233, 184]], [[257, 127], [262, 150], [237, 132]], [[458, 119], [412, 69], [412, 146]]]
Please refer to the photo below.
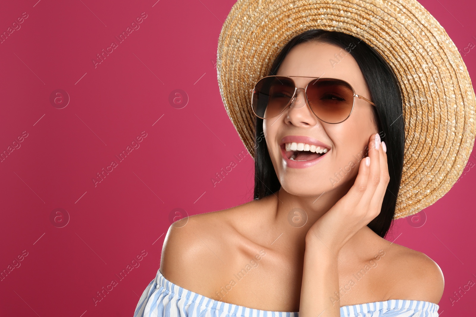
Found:
[[362, 39], [385, 58], [402, 91], [405, 157], [394, 219], [449, 191], [475, 140], [475, 93], [445, 29], [416, 0], [238, 0], [218, 38], [218, 85], [241, 141], [254, 158], [249, 89], [280, 49], [308, 29]]

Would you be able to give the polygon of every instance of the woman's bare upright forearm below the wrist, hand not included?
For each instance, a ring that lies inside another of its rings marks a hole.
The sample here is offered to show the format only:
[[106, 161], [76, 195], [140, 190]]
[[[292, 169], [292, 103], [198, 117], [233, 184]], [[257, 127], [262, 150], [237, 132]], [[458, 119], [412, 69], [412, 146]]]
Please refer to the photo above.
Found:
[[316, 239], [306, 240], [299, 317], [340, 317], [337, 255]]

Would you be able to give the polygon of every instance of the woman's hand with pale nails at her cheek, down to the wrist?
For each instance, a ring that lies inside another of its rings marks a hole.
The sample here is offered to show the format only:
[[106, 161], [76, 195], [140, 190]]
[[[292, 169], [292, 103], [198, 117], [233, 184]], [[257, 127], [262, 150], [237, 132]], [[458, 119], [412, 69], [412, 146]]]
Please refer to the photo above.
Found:
[[[350, 238], [380, 213], [387, 184], [387, 154], [380, 136], [373, 134], [368, 157], [360, 161], [354, 185], [329, 211], [307, 231], [306, 241], [322, 243], [334, 255]], [[366, 162], [370, 160], [369, 166]]]

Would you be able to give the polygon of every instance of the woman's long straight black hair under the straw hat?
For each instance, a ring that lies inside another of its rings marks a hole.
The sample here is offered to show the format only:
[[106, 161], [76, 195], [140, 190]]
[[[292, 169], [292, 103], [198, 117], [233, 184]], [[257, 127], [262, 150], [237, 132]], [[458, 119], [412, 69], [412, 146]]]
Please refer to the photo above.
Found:
[[[342, 32], [323, 29], [307, 30], [292, 38], [273, 61], [268, 76], [276, 75], [288, 52], [299, 43], [322, 42], [350, 49], [351, 56], [367, 82], [370, 97], [376, 104], [373, 122], [387, 146], [387, 162], [390, 181], [387, 185], [380, 214], [367, 226], [384, 238], [390, 229], [397, 203], [397, 193], [403, 170], [404, 121], [402, 99], [397, 78], [384, 58], [364, 41]], [[255, 191], [254, 199], [264, 198], [279, 190], [281, 184], [269, 157], [263, 133], [263, 119], [256, 118]]]

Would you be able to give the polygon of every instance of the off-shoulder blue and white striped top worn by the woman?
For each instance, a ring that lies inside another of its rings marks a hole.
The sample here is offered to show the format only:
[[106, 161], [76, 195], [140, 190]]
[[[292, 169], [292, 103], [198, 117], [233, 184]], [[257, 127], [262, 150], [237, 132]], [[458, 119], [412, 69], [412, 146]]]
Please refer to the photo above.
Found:
[[[438, 317], [438, 308], [422, 300], [389, 299], [342, 306], [340, 316]], [[299, 317], [299, 313], [253, 309], [208, 298], [170, 282], [159, 269], [142, 293], [134, 317]]]

